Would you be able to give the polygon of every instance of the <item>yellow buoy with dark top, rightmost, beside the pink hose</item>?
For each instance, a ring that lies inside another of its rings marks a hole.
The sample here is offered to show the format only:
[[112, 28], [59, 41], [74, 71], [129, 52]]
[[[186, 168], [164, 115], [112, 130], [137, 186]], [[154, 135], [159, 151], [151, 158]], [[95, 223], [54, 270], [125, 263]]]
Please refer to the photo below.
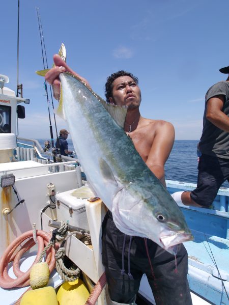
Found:
[[89, 297], [89, 291], [80, 279], [65, 282], [57, 293], [59, 305], [84, 305]]

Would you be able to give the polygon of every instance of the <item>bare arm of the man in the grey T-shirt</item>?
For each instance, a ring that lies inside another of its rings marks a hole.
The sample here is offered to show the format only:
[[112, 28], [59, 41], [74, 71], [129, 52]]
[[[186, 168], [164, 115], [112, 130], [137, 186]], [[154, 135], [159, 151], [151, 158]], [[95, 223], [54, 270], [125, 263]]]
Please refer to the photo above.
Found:
[[216, 127], [229, 132], [229, 118], [222, 112], [224, 98], [217, 95], [208, 100], [206, 118]]

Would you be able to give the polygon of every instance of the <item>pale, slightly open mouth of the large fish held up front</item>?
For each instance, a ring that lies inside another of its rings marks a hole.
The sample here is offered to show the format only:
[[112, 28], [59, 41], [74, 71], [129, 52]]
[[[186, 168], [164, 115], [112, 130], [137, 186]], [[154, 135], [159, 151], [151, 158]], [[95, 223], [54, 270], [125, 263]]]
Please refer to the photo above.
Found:
[[193, 240], [194, 237], [191, 233], [186, 232], [171, 232], [168, 234], [168, 231], [161, 232], [160, 242], [162, 243], [164, 249], [169, 253], [176, 254], [176, 245], [185, 241]]

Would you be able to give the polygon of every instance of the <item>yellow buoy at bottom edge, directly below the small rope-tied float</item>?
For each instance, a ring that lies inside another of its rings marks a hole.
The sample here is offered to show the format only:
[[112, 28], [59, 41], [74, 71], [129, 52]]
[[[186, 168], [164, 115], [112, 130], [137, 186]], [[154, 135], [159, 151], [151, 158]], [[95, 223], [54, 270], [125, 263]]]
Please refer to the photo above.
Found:
[[47, 286], [29, 290], [23, 295], [20, 305], [58, 305], [55, 289]]

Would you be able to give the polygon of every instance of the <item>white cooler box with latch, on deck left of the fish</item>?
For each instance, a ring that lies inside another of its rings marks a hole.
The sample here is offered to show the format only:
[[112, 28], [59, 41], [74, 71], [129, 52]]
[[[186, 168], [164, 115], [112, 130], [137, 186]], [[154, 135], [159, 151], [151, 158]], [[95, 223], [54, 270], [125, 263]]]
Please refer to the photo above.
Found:
[[85, 202], [87, 199], [77, 198], [74, 196], [74, 191], [76, 189], [56, 194], [55, 200], [58, 220], [68, 221], [71, 226], [89, 230], [85, 210]]

